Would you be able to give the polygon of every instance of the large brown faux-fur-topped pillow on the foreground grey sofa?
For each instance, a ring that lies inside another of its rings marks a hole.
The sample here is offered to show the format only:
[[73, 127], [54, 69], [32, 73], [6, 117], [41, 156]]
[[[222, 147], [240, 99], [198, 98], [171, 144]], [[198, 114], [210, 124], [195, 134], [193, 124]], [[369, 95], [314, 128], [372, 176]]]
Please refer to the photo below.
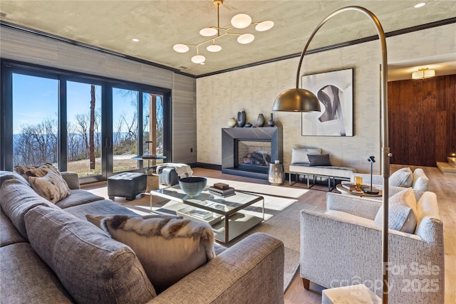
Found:
[[211, 226], [182, 216], [92, 216], [113, 239], [135, 251], [157, 293], [214, 258]]

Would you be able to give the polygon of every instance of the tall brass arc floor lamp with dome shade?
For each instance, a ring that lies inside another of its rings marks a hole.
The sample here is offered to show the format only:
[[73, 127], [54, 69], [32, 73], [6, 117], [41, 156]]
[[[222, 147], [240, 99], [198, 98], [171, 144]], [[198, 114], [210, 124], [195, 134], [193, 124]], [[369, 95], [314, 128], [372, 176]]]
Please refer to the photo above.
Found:
[[301, 64], [306, 54], [307, 48], [314, 38], [316, 32], [323, 26], [326, 21], [333, 18], [344, 11], [360, 11], [368, 16], [374, 23], [377, 29], [378, 37], [380, 38], [381, 51], [382, 51], [382, 64], [380, 73], [380, 118], [381, 118], [381, 167], [383, 175], [383, 229], [382, 229], [382, 273], [383, 273], [383, 296], [382, 303], [388, 303], [388, 179], [390, 177], [390, 147], [388, 147], [388, 60], [386, 56], [386, 39], [385, 32], [378, 18], [368, 9], [361, 6], [346, 6], [342, 9], [334, 11], [328, 15], [323, 21], [318, 24], [309, 37], [304, 50], [301, 53], [299, 60], [298, 72], [296, 73], [296, 88], [285, 90], [280, 93], [272, 110], [274, 111], [288, 111], [288, 112], [320, 112], [320, 103], [314, 93], [309, 90], [299, 88], [299, 73], [301, 71]]

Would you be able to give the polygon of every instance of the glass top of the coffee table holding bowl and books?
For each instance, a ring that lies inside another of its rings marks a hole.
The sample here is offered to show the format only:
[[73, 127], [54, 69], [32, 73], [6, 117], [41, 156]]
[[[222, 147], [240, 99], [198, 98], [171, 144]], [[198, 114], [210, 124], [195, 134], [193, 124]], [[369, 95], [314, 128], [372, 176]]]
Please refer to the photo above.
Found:
[[236, 191], [232, 196], [215, 196], [210, 194], [207, 188], [197, 196], [189, 196], [180, 189], [179, 185], [158, 189], [151, 193], [228, 216], [263, 199], [262, 196], [240, 191]]

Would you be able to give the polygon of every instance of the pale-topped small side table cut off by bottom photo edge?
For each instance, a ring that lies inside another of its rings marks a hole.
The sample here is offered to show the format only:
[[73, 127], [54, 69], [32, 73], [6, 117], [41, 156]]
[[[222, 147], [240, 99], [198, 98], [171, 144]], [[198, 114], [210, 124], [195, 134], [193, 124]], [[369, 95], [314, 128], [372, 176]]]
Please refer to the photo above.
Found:
[[364, 284], [323, 290], [321, 304], [381, 304], [382, 299]]

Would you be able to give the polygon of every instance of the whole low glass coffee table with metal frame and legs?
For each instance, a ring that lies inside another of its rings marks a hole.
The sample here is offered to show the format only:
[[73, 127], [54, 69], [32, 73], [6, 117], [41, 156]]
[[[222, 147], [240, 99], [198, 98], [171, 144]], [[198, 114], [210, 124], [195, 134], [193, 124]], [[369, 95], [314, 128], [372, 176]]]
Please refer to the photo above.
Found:
[[[162, 188], [150, 192], [150, 211], [152, 211], [152, 195], [160, 196], [182, 204], [176, 212], [196, 221], [203, 221], [212, 226], [215, 239], [228, 243], [244, 232], [257, 226], [264, 220], [264, 197], [247, 192], [235, 191], [235, 195], [219, 197], [204, 189], [197, 196], [188, 196], [179, 185]], [[245, 209], [262, 201], [261, 216], [247, 214]]]

